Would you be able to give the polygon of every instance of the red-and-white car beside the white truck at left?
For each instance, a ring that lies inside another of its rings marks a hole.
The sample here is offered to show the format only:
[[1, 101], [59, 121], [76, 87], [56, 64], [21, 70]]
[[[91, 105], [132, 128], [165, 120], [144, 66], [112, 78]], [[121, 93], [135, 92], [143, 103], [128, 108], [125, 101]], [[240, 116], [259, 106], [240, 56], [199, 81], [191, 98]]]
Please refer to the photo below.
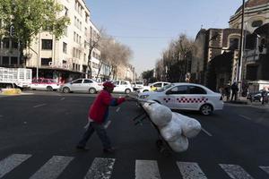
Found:
[[34, 79], [30, 84], [30, 89], [32, 90], [59, 90], [60, 84], [53, 79], [39, 78]]

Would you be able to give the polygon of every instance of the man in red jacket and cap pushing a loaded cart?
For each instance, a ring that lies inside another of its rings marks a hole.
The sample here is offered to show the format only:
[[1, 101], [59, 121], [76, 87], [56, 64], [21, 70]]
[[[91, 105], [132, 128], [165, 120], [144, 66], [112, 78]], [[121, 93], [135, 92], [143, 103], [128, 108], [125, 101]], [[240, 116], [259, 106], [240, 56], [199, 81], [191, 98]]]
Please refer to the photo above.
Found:
[[103, 145], [103, 151], [112, 153], [115, 149], [111, 147], [111, 142], [108, 138], [104, 124], [108, 118], [108, 107], [117, 106], [124, 102], [126, 98], [112, 98], [111, 93], [114, 90], [114, 84], [110, 81], [103, 83], [104, 89], [93, 101], [88, 113], [89, 127], [82, 136], [82, 140], [76, 146], [77, 149], [88, 150], [85, 148], [91, 134], [95, 131]]

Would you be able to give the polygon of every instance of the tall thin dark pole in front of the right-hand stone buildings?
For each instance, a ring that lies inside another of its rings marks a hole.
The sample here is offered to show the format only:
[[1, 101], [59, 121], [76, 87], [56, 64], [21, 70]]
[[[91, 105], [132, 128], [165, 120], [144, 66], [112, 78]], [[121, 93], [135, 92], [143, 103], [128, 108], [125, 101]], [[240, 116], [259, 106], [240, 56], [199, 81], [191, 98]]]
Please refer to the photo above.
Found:
[[245, 0], [242, 2], [242, 19], [241, 19], [241, 39], [239, 49], [239, 63], [237, 69], [237, 82], [239, 84], [239, 96], [242, 89], [242, 60], [244, 55], [244, 14], [245, 14]]

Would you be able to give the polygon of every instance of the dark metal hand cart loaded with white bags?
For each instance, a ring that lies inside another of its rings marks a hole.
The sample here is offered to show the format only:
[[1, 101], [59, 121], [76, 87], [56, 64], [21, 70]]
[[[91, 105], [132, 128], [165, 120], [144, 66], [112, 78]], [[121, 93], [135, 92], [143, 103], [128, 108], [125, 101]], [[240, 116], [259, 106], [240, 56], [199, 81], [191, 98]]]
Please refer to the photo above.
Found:
[[[155, 102], [149, 102], [149, 101], [146, 101], [146, 100], [141, 100], [141, 99], [136, 99], [136, 102], [143, 102], [143, 103], [149, 103], [149, 105], [152, 105], [153, 103]], [[144, 110], [143, 107], [142, 108], [142, 113], [139, 114], [139, 115], [136, 115], [134, 118], [133, 118], [133, 121], [134, 121], [134, 125], [137, 125], [137, 124], [143, 124], [143, 120], [148, 118], [149, 121], [151, 122], [152, 126], [156, 129], [157, 131], [157, 135], [158, 135], [158, 139], [156, 141], [156, 147], [157, 149], [161, 152], [161, 154], [165, 157], [169, 157], [171, 154], [172, 154], [172, 149], [170, 148], [169, 146], [169, 143], [167, 141], [165, 141], [163, 139], [163, 137], [161, 136], [161, 132], [159, 130], [159, 128], [157, 127], [156, 124], [154, 124], [152, 122], [152, 119], [150, 117], [150, 115], [148, 115], [148, 113]]]

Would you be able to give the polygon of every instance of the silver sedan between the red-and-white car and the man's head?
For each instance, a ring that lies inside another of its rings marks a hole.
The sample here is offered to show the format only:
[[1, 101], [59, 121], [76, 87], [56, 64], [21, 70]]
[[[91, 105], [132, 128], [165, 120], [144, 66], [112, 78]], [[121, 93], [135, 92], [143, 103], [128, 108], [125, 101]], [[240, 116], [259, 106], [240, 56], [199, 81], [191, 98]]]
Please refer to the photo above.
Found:
[[102, 90], [101, 83], [91, 79], [77, 79], [71, 82], [67, 82], [61, 86], [61, 91], [64, 93], [69, 92], [89, 92], [91, 94], [97, 93]]

